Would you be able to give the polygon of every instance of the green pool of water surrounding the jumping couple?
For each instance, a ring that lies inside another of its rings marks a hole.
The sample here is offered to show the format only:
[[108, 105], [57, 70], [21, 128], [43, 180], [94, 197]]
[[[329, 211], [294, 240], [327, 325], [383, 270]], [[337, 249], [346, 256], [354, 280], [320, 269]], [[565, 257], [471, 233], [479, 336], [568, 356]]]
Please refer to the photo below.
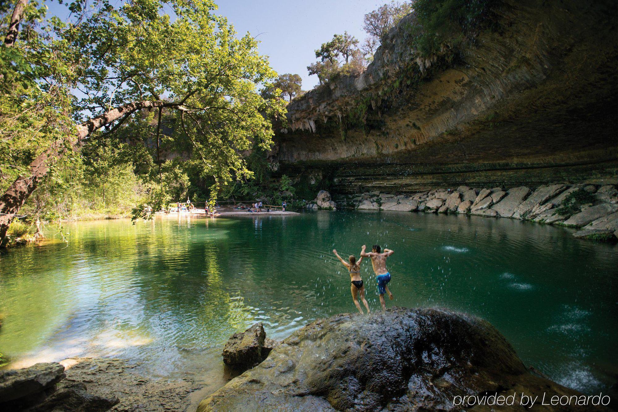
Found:
[[[595, 392], [618, 374], [618, 246], [567, 229], [468, 216], [308, 212], [239, 219], [83, 222], [70, 242], [0, 257], [0, 352], [14, 366], [116, 356], [155, 376], [221, 364], [255, 321], [286, 337], [353, 312], [331, 253], [392, 248], [387, 306], [442, 306], [488, 319], [527, 365]], [[53, 233], [50, 233], [52, 236]], [[369, 262], [361, 272], [379, 308]], [[206, 362], [208, 361], [208, 362]]]

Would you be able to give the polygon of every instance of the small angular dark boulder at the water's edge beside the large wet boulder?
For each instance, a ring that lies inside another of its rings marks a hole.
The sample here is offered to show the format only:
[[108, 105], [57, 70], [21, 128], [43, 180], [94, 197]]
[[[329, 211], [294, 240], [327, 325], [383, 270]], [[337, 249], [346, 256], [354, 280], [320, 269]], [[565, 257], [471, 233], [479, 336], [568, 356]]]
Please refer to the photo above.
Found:
[[232, 335], [223, 349], [223, 362], [239, 369], [253, 368], [268, 356], [264, 356], [262, 348], [266, 339], [266, 332], [261, 322], [256, 323], [245, 332]]

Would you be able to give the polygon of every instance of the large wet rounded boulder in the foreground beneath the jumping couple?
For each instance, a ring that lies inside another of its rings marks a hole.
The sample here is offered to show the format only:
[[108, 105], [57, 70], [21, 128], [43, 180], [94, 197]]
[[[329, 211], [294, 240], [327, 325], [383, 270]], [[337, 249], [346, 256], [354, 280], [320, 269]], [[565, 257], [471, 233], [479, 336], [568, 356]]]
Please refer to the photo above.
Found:
[[206, 411], [460, 410], [455, 396], [580, 395], [533, 376], [489, 322], [430, 308], [319, 319], [201, 401]]

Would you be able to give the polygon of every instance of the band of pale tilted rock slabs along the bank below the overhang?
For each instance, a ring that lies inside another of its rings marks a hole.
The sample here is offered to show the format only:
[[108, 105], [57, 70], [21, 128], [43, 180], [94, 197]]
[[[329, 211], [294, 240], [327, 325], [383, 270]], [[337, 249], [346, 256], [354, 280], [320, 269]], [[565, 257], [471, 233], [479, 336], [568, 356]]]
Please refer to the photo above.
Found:
[[371, 191], [337, 198], [320, 191], [308, 209], [358, 209], [426, 213], [457, 213], [484, 217], [510, 217], [523, 221], [580, 229], [575, 237], [616, 241], [618, 190], [614, 185], [551, 184], [531, 190], [514, 188], [439, 188], [413, 195]]

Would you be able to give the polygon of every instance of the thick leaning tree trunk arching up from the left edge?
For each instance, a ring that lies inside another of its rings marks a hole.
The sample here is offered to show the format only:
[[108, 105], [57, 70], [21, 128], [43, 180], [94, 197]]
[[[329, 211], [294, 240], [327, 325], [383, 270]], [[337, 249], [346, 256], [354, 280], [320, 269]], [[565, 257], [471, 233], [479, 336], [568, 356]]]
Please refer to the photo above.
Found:
[[[163, 101], [138, 101], [125, 104], [124, 106], [116, 107], [105, 114], [94, 117], [93, 119], [83, 122], [76, 128], [74, 135], [74, 143], [70, 146], [72, 149], [82, 145], [82, 141], [90, 133], [98, 130], [106, 124], [115, 122], [116, 120], [124, 120], [132, 112], [142, 109], [152, 109], [155, 107], [176, 107], [175, 103], [164, 103]], [[49, 169], [61, 158], [66, 146], [64, 142], [56, 141], [43, 153], [30, 163], [30, 175], [19, 176], [13, 184], [0, 197], [0, 240], [6, 236], [6, 231], [13, 221], [13, 218], [19, 212], [19, 209], [28, 200], [28, 196], [41, 183]]]

